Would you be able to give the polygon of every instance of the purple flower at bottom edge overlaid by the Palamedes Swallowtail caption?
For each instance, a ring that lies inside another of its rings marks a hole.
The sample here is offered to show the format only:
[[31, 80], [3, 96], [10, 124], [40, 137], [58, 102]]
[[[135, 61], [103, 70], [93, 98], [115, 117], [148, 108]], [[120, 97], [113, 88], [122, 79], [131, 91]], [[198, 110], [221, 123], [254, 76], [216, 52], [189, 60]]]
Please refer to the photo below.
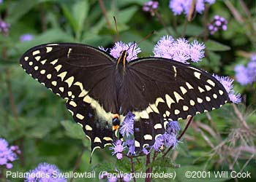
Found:
[[30, 170], [26, 173], [25, 182], [66, 182], [66, 178], [61, 176], [61, 172], [56, 165], [50, 165], [46, 162], [40, 163], [34, 170]]

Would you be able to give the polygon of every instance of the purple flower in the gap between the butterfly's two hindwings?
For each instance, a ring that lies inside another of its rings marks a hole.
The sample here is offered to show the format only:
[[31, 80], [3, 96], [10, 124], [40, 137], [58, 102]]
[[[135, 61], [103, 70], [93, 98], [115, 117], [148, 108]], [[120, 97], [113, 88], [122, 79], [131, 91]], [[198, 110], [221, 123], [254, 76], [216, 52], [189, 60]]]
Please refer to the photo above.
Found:
[[135, 120], [135, 114], [132, 114], [132, 112], [128, 112], [128, 114], [125, 116], [123, 123], [120, 127], [120, 133], [124, 136], [129, 137], [129, 135], [133, 135], [133, 124]]

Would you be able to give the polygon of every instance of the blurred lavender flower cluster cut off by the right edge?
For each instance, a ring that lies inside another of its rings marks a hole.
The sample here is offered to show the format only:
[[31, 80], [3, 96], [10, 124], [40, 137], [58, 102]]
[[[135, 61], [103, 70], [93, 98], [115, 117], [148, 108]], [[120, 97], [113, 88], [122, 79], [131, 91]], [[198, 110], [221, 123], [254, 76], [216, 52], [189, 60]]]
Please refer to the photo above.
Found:
[[236, 80], [241, 85], [252, 84], [256, 82], [256, 54], [251, 56], [247, 66], [238, 65], [235, 67]]

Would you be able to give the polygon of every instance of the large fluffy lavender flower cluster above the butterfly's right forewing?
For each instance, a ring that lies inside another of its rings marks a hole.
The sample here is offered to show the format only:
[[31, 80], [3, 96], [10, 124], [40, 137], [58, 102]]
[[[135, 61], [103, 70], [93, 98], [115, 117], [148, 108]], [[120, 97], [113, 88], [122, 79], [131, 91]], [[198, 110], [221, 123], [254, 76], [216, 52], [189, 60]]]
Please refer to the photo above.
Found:
[[154, 47], [154, 56], [160, 58], [168, 58], [179, 61], [181, 63], [198, 62], [204, 57], [205, 45], [198, 41], [189, 44], [184, 38], [174, 40], [172, 36], [163, 36]]

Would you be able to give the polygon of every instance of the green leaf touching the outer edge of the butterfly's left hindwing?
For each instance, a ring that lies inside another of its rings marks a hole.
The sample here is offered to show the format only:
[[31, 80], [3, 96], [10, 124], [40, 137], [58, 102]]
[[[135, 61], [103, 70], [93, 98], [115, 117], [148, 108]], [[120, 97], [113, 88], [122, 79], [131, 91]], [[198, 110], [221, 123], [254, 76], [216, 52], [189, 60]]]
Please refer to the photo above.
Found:
[[64, 120], [61, 122], [61, 124], [64, 126], [66, 133], [70, 138], [76, 138], [76, 139], [82, 139], [82, 140], [85, 138], [83, 129], [80, 127], [79, 124], [69, 120]]

